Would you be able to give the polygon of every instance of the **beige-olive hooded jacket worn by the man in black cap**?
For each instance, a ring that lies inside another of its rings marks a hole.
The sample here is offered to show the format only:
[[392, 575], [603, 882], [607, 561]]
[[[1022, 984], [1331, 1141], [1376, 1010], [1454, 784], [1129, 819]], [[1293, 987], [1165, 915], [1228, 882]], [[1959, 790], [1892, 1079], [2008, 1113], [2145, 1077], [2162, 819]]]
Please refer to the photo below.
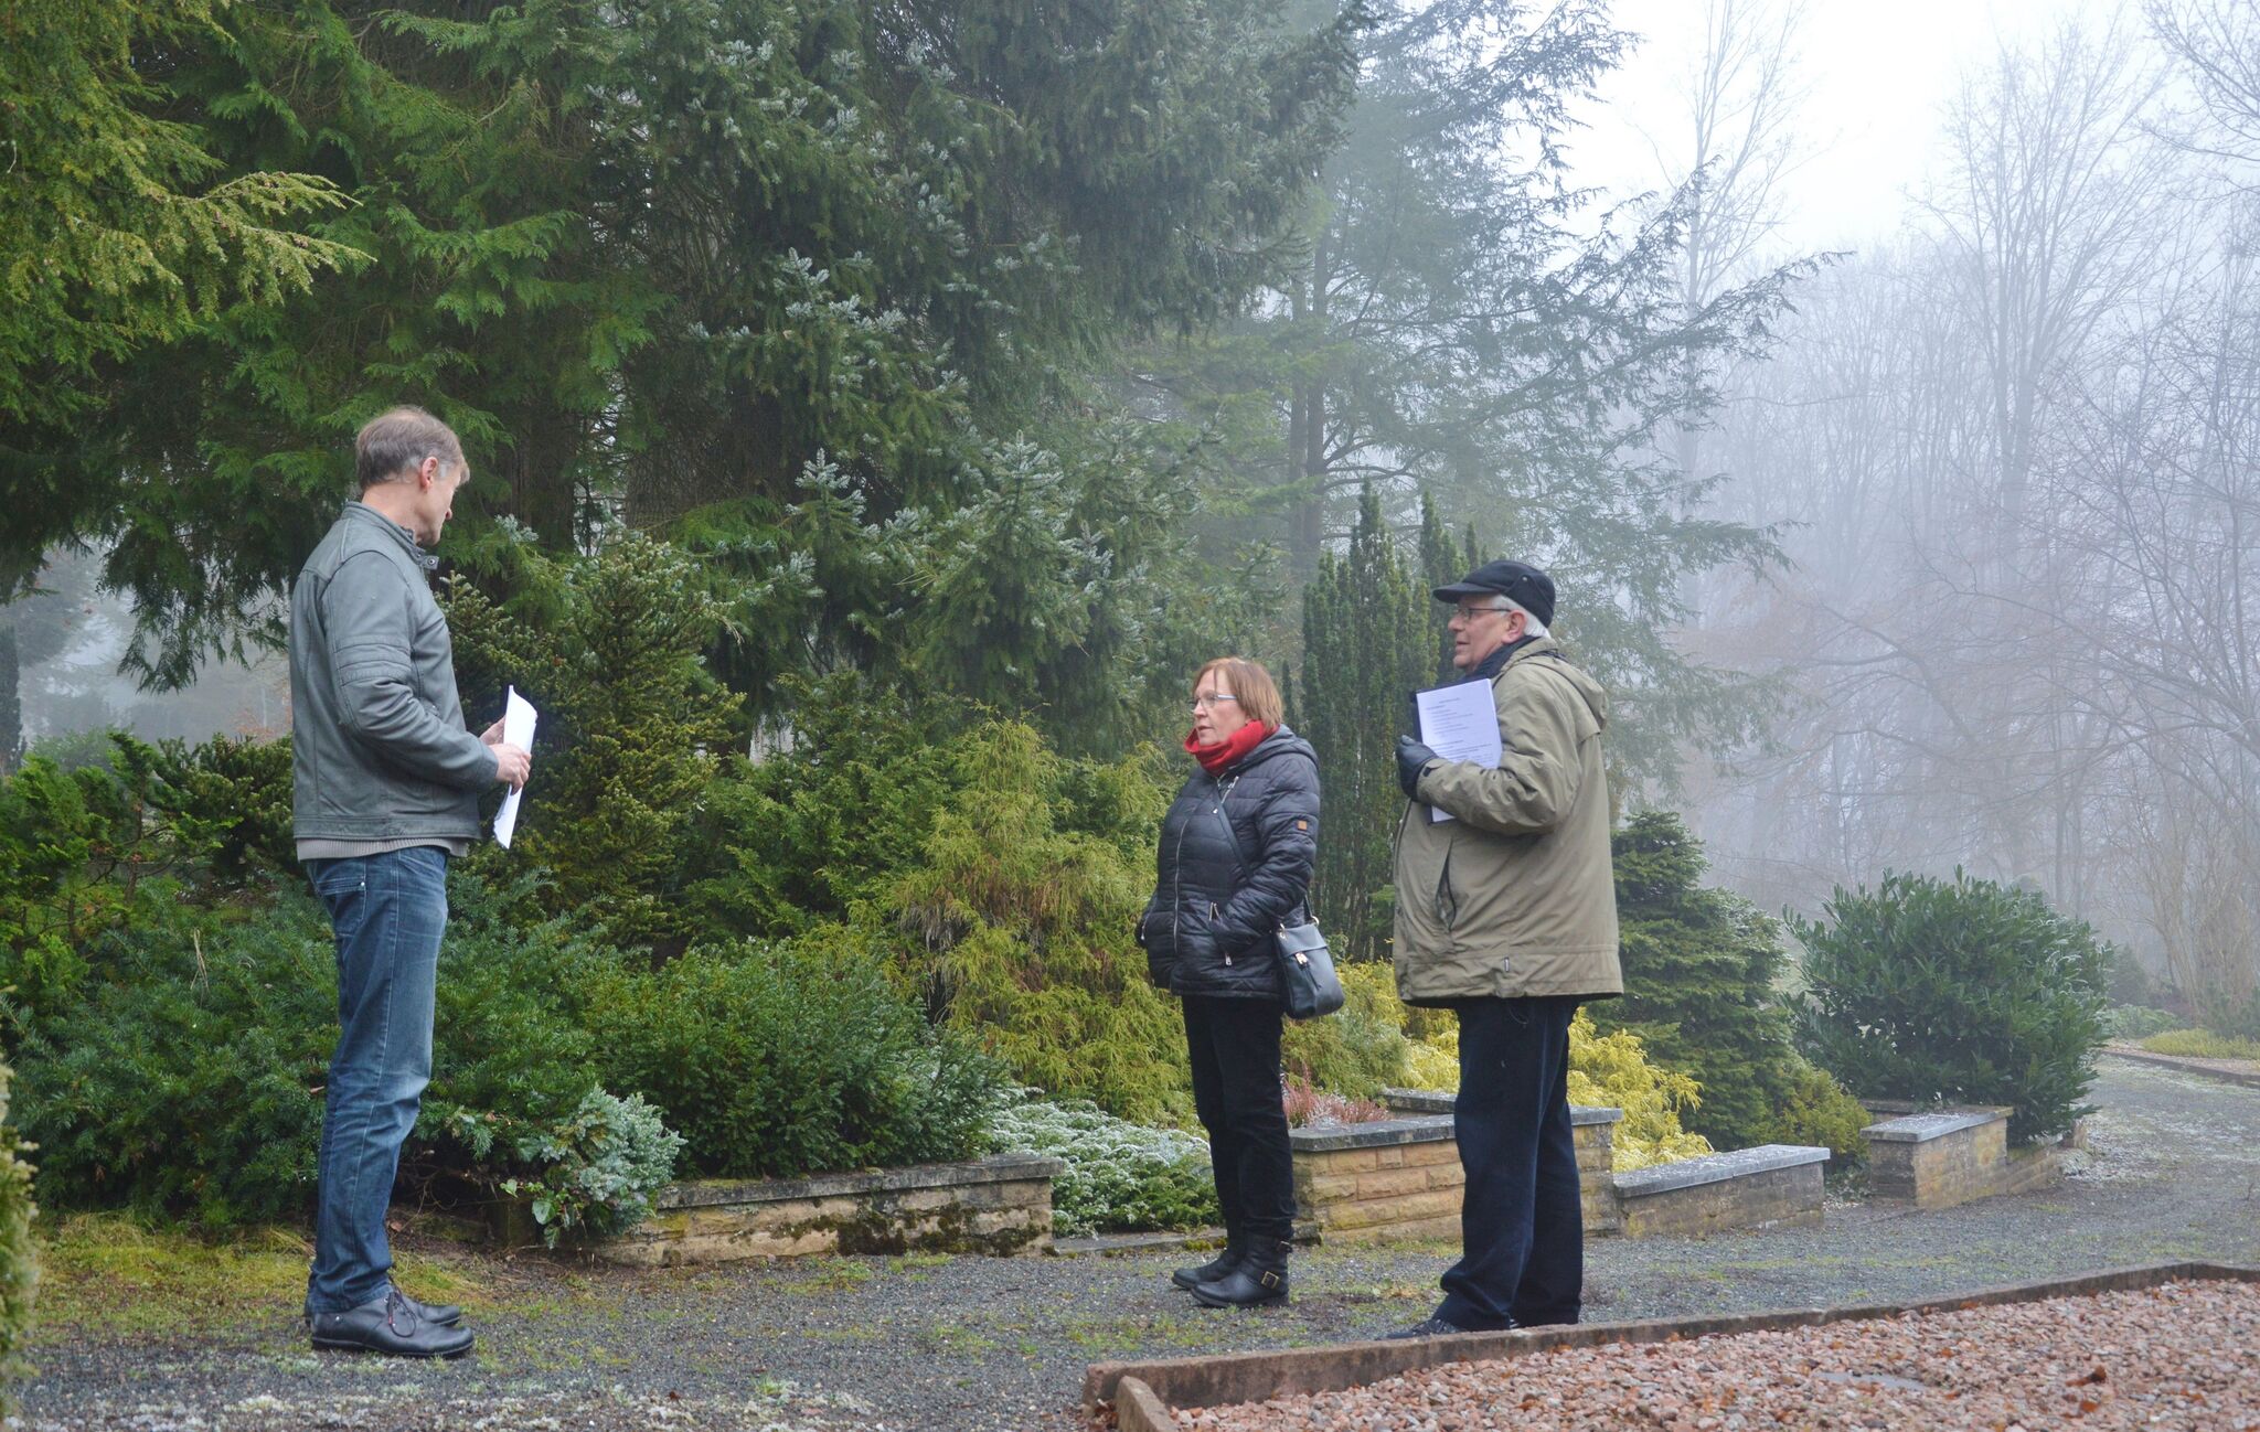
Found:
[[[1397, 824], [1397, 992], [1460, 998], [1625, 992], [1616, 958], [1609, 698], [1550, 637], [1492, 680], [1498, 770], [1431, 766]], [[1455, 820], [1433, 822], [1428, 806]]]

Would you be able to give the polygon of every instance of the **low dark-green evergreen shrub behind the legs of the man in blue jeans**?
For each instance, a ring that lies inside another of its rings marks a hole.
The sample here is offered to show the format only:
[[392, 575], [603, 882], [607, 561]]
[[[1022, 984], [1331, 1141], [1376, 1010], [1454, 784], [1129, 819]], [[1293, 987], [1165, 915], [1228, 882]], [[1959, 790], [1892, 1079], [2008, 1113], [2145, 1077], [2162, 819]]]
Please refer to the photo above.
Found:
[[[617, 955], [565, 922], [527, 919], [520, 894], [450, 881], [434, 1077], [402, 1150], [402, 1179], [443, 1204], [592, 1161], [581, 1116], [601, 1091], [581, 998], [617, 976]], [[301, 1217], [337, 1041], [337, 958], [319, 901], [298, 888], [246, 908], [158, 901], [131, 933], [106, 935], [93, 967], [86, 998], [25, 1028], [18, 1053], [43, 1199], [208, 1229]], [[662, 1181], [583, 1181], [572, 1213], [599, 1226]]]

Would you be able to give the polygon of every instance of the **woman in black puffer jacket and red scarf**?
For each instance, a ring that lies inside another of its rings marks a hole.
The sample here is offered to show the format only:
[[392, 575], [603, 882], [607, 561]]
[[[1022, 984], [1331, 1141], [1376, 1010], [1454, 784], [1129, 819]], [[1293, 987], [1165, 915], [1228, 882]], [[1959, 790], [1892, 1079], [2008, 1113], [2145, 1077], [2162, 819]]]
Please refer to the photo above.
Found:
[[1159, 881], [1137, 935], [1184, 998], [1193, 1107], [1209, 1129], [1225, 1251], [1175, 1274], [1211, 1308], [1286, 1299], [1295, 1168], [1279, 1089], [1281, 924], [1304, 919], [1318, 858], [1318, 757], [1279, 721], [1263, 666], [1218, 657], [1193, 684], [1198, 768], [1162, 820]]

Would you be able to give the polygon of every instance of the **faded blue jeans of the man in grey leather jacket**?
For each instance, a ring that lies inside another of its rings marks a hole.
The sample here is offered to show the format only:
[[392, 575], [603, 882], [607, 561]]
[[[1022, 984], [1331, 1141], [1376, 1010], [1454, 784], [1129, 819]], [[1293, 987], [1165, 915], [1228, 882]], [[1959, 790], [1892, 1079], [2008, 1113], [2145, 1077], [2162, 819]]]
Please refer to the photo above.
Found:
[[337, 935], [337, 1055], [321, 1116], [321, 1204], [307, 1312], [384, 1294], [384, 1211], [432, 1082], [432, 998], [447, 924], [447, 852], [429, 845], [307, 861]]

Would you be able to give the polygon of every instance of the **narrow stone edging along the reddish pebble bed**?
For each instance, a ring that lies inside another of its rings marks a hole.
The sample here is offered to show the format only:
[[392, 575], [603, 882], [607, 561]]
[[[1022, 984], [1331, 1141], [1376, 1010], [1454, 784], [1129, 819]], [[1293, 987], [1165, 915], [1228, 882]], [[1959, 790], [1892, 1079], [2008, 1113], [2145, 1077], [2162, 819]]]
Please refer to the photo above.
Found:
[[1171, 1407], [1232, 1407], [1288, 1394], [1345, 1391], [1442, 1362], [1487, 1362], [1609, 1342], [1670, 1342], [1709, 1337], [1713, 1333], [1813, 1328], [1835, 1321], [1898, 1317], [1903, 1312], [1950, 1312], [1955, 1308], [2032, 1303], [2039, 1299], [2122, 1292], [2206, 1278], [2260, 1283], [2260, 1267], [2237, 1263], [2152, 1263], [2077, 1278], [1977, 1287], [1914, 1303], [1851, 1303], [1844, 1308], [1785, 1308], [1776, 1312], [1580, 1324], [1519, 1333], [1458, 1333], [1453, 1337], [1347, 1342], [1324, 1348], [1227, 1353], [1220, 1357], [1180, 1357], [1173, 1362], [1094, 1362], [1083, 1373], [1083, 1407], [1096, 1414], [1101, 1405], [1112, 1405], [1116, 1425], [1123, 1432], [1166, 1432], [1175, 1427]]

